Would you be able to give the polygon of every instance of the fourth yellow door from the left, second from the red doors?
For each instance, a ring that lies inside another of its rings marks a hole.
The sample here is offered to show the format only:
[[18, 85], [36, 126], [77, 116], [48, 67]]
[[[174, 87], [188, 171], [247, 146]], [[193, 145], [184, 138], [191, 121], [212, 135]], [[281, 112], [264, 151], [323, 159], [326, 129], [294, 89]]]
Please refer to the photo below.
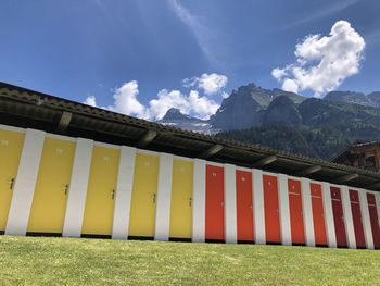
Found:
[[159, 162], [157, 156], [143, 153], [136, 156], [129, 221], [130, 236], [154, 236]]

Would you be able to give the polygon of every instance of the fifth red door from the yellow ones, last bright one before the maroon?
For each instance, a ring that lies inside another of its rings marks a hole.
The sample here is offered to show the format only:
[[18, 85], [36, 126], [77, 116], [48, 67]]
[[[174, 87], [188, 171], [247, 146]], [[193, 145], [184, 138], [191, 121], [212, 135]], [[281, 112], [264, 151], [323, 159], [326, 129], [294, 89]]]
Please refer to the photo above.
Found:
[[313, 224], [316, 246], [327, 246], [322, 190], [319, 184], [311, 183]]

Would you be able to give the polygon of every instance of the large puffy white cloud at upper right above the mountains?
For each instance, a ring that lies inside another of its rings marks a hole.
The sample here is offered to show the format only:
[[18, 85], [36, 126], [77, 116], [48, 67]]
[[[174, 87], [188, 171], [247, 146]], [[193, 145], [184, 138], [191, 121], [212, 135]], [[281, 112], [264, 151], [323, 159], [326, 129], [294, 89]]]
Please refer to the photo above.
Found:
[[309, 35], [295, 46], [296, 62], [274, 69], [271, 75], [288, 91], [311, 89], [315, 97], [338, 88], [359, 72], [366, 43], [346, 21], [338, 21], [329, 36]]

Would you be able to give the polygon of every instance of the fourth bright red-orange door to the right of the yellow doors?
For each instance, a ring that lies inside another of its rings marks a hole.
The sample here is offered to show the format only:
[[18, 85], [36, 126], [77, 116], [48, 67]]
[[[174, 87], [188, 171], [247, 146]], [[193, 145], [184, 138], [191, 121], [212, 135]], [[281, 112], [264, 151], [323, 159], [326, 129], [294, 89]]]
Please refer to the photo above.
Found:
[[304, 220], [302, 213], [301, 182], [288, 179], [290, 226], [293, 245], [305, 244]]

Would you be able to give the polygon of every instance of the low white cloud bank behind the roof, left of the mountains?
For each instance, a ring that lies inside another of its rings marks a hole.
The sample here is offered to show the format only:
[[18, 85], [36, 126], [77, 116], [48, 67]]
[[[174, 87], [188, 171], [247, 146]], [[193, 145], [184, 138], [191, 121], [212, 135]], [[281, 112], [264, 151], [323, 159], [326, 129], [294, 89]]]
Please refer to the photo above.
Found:
[[[177, 108], [183, 114], [205, 120], [219, 108], [214, 100], [200, 96], [197, 90], [190, 90], [189, 95], [186, 95], [179, 90], [162, 89], [149, 105], [143, 105], [138, 95], [139, 85], [136, 80], [125, 83], [115, 89], [113, 104], [101, 108], [145, 120], [161, 120], [170, 108]], [[84, 103], [97, 107], [96, 97], [88, 97]]]

